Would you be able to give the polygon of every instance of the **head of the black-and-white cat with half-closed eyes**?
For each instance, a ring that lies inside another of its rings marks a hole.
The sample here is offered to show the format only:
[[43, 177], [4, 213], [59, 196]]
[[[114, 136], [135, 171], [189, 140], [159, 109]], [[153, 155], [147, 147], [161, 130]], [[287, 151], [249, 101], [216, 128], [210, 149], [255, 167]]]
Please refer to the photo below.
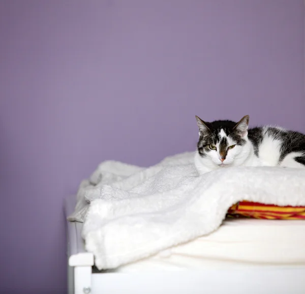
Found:
[[[232, 121], [204, 122], [196, 116], [199, 127], [197, 151], [206, 164], [236, 165], [245, 156], [248, 142], [249, 115], [236, 123]], [[209, 162], [210, 161], [210, 162]]]

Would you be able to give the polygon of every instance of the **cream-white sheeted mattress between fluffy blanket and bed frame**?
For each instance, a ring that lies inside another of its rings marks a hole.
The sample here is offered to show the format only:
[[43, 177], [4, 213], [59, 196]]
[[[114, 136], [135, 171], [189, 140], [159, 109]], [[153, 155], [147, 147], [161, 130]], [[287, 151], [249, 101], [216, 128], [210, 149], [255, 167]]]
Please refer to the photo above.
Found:
[[305, 221], [229, 219], [214, 233], [116, 272], [305, 266]]

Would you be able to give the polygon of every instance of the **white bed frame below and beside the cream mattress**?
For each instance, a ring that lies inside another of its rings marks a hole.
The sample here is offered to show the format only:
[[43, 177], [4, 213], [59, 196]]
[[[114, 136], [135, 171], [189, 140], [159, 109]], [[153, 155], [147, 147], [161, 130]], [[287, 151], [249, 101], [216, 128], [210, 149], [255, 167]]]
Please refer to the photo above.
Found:
[[[75, 196], [65, 203], [66, 216], [75, 208]], [[227, 266], [220, 269], [175, 272], [94, 273], [94, 256], [85, 251], [82, 224], [68, 222], [69, 294], [304, 294], [305, 267]], [[304, 245], [305, 250], [305, 245]], [[285, 252], [283, 252], [285, 254]]]

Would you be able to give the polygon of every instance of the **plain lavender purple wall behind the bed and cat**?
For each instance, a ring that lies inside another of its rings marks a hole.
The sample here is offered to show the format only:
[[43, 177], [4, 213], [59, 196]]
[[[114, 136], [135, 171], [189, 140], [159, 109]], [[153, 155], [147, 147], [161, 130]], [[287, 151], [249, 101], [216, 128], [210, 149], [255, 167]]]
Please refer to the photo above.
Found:
[[[204, 120], [305, 131], [302, 0], [0, 2], [1, 291], [64, 293], [63, 199]], [[21, 276], [20, 276], [21, 274]]]

